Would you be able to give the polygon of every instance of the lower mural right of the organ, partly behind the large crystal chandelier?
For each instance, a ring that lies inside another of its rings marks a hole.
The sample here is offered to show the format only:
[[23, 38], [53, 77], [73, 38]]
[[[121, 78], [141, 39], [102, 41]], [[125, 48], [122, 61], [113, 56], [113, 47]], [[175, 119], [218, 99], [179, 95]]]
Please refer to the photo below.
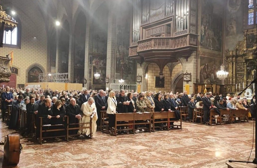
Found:
[[221, 64], [221, 59], [200, 56], [200, 83], [221, 83], [216, 76]]

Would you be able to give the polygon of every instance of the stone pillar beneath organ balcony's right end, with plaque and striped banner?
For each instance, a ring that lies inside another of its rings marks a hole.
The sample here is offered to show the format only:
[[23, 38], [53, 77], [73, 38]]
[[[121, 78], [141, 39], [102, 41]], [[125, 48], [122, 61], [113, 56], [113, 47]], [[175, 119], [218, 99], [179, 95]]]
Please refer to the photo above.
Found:
[[[196, 83], [196, 51], [192, 52], [191, 56], [188, 58], [188, 61], [186, 61], [185, 58], [179, 59], [182, 64], [182, 70], [183, 73], [191, 73], [191, 81], [188, 82], [190, 85], [189, 87], [189, 93], [194, 93], [194, 83]], [[185, 90], [185, 84], [187, 84], [185, 81], [183, 81], [183, 91]], [[175, 91], [176, 92], [176, 91]]]

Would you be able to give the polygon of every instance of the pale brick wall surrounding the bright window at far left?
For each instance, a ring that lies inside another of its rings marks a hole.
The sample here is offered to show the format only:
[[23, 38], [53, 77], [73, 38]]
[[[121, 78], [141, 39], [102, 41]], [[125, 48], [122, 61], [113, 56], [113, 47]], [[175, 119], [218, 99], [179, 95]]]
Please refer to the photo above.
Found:
[[[12, 3], [13, 2], [13, 3]], [[13, 66], [20, 69], [16, 84], [26, 82], [26, 70], [32, 64], [38, 63], [44, 69], [47, 67], [47, 34], [45, 24], [35, 3], [29, 0], [2, 1], [3, 10], [12, 8], [20, 19], [21, 48], [6, 47], [0, 49], [0, 56], [5, 57], [13, 51]], [[35, 38], [34, 38], [35, 37]]]

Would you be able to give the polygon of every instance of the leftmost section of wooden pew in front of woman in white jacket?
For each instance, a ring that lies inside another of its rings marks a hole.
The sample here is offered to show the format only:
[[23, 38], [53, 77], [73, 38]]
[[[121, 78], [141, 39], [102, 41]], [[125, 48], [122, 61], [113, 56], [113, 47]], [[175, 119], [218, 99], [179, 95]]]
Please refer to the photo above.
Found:
[[[128, 125], [133, 125], [134, 126], [134, 114], [135, 113], [116, 113], [115, 115], [115, 130], [114, 130], [114, 135], [117, 136], [117, 127], [119, 126], [128, 126]], [[125, 124], [117, 124], [117, 121], [133, 121], [133, 123], [125, 123]], [[119, 129], [119, 131], [128, 131], [132, 130], [133, 134], [135, 134], [134, 128], [124, 128], [124, 129]]]

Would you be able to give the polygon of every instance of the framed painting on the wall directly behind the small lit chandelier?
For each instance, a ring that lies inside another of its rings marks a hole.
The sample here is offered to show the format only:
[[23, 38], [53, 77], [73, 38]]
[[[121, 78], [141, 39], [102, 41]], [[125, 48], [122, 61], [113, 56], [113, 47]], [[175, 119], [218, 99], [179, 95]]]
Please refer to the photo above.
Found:
[[[99, 73], [99, 78], [95, 78], [94, 74]], [[105, 86], [106, 67], [93, 66], [93, 83], [92, 85]]]

